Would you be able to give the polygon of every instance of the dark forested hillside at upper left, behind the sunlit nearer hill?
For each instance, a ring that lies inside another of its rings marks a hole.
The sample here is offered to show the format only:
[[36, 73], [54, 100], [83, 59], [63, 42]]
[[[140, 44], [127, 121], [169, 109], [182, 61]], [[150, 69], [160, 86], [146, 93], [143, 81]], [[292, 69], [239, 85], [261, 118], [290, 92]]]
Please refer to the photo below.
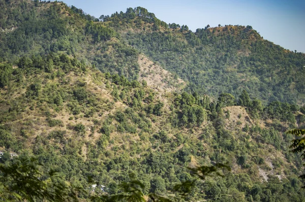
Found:
[[94, 63], [103, 72], [138, 78], [139, 52], [82, 10], [58, 2], [0, 1], [0, 5], [6, 19], [0, 24], [0, 60], [16, 63], [22, 55], [65, 52]]

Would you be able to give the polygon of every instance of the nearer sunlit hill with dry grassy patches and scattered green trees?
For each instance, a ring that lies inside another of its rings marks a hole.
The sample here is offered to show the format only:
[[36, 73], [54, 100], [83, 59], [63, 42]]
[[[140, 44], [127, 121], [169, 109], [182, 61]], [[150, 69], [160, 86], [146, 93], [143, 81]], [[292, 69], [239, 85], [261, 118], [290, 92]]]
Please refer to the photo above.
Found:
[[102, 74], [66, 54], [37, 60], [0, 63], [0, 149], [18, 154], [0, 162], [35, 157], [43, 176], [55, 169], [83, 187], [81, 200], [95, 194], [88, 178], [106, 186], [100, 194], [115, 194], [131, 173], [145, 184], [144, 194], [174, 194], [171, 187], [192, 179], [188, 166], [215, 162], [228, 163], [232, 173], [199, 181], [190, 199], [234, 201], [232, 189], [247, 200], [305, 198], [296, 178], [300, 158], [288, 152], [292, 137], [282, 133], [296, 118], [305, 125], [294, 106], [263, 110], [257, 100], [232, 106], [226, 94], [211, 103], [208, 96]]

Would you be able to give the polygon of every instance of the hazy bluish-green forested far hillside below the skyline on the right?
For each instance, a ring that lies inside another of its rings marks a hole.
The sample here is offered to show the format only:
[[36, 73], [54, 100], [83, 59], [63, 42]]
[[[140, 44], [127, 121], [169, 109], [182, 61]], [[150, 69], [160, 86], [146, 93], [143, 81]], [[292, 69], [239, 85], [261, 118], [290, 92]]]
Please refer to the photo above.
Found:
[[247, 89], [266, 103], [304, 103], [304, 54], [263, 40], [251, 26], [206, 26], [192, 32], [174, 23], [156, 26], [158, 20], [142, 16], [114, 14], [108, 21], [130, 45], [189, 81], [191, 91], [217, 96]]

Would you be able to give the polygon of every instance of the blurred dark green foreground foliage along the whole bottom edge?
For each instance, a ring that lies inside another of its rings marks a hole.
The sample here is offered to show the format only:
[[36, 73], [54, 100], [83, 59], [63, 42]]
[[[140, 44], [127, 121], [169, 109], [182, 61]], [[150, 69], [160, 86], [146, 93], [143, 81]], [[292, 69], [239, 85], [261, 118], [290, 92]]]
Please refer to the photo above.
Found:
[[[39, 171], [39, 164], [34, 158], [21, 156], [15, 158], [8, 164], [0, 163], [0, 200], [1, 201], [78, 201], [77, 192], [68, 182], [63, 181], [57, 173], [50, 168], [47, 175]], [[223, 171], [230, 171], [230, 167], [225, 164], [215, 166], [197, 166], [191, 168], [193, 180], [176, 184], [173, 191], [175, 196], [167, 197], [151, 193], [148, 197], [152, 201], [180, 201], [187, 199], [188, 193], [194, 188], [197, 180], [205, 180], [206, 177], [223, 176]], [[146, 201], [142, 192], [145, 187], [143, 183], [135, 179], [134, 174], [130, 174], [128, 182], [120, 184], [121, 192], [113, 195], [94, 194], [90, 197], [92, 201]], [[81, 190], [84, 191], [84, 190]]]

